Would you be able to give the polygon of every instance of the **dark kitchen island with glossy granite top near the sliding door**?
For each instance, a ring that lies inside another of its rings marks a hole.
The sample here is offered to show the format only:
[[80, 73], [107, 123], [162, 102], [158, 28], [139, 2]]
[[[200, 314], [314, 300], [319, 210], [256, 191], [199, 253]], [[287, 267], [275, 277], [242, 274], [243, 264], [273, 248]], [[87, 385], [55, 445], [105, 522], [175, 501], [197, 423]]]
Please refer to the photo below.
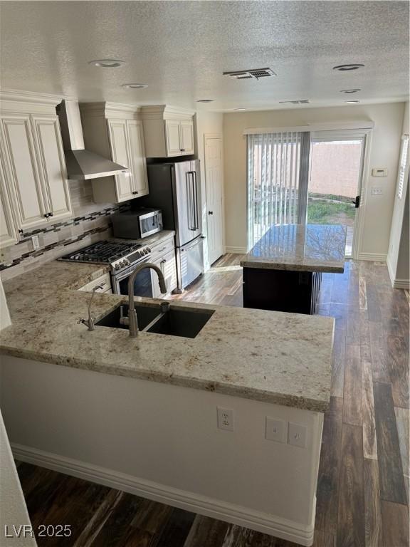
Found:
[[341, 225], [272, 226], [241, 260], [243, 306], [315, 313], [322, 273], [345, 269], [345, 244]]

